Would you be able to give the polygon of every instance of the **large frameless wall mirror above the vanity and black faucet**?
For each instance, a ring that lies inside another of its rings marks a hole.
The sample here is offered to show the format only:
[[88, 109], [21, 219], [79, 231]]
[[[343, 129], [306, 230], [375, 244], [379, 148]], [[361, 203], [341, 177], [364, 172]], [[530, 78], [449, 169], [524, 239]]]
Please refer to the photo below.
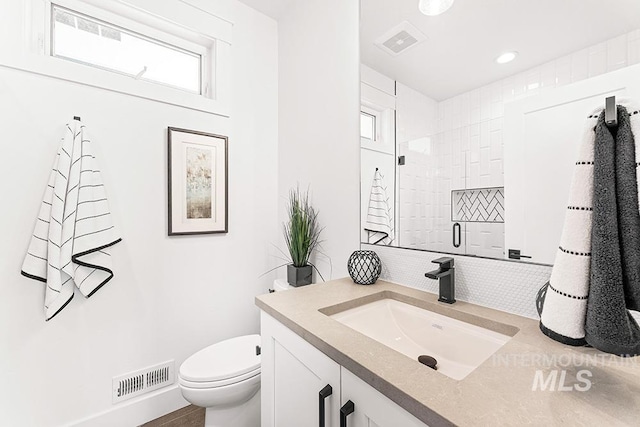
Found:
[[640, 101], [640, 2], [362, 0], [360, 40], [362, 242], [552, 264], [587, 115]]

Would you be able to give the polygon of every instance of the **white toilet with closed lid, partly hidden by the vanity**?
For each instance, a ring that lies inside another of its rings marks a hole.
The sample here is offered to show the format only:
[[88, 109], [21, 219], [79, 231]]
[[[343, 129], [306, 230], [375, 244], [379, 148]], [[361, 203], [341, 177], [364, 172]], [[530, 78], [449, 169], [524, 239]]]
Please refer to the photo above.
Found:
[[206, 427], [260, 425], [260, 335], [235, 337], [204, 348], [182, 363], [182, 396], [206, 408]]

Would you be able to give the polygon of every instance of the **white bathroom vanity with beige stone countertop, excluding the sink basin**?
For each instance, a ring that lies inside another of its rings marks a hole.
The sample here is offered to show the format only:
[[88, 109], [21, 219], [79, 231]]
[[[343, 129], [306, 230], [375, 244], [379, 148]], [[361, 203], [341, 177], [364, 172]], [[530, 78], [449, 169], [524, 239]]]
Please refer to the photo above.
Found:
[[[385, 299], [507, 338], [456, 380], [336, 316]], [[348, 278], [261, 295], [256, 304], [265, 427], [322, 426], [322, 419], [327, 427], [613, 426], [640, 416], [640, 361], [564, 346], [543, 336], [533, 319]]]

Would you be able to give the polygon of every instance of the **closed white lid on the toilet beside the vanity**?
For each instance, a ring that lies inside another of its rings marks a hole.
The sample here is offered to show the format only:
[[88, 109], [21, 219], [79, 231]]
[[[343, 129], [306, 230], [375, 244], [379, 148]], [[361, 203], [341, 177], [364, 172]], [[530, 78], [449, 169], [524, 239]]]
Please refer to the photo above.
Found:
[[260, 368], [256, 346], [260, 335], [245, 335], [210, 345], [180, 366], [180, 377], [188, 381], [225, 380]]

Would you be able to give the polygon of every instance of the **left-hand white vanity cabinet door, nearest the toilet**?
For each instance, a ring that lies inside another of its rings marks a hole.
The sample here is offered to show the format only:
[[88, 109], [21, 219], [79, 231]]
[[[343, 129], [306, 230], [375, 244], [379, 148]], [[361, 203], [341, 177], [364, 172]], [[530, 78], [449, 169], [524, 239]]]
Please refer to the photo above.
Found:
[[325, 426], [338, 427], [340, 365], [264, 312], [261, 331], [262, 427], [318, 426], [327, 385]]

